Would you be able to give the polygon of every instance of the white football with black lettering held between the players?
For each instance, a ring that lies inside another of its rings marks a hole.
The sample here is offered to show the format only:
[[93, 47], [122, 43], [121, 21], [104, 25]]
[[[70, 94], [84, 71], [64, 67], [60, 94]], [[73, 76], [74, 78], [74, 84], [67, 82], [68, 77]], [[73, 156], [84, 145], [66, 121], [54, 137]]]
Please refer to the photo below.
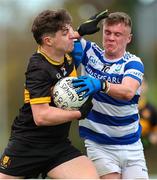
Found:
[[83, 98], [83, 94], [78, 95], [72, 85], [72, 79], [76, 77], [65, 77], [59, 80], [52, 91], [52, 97], [57, 107], [67, 110], [77, 110], [88, 99]]

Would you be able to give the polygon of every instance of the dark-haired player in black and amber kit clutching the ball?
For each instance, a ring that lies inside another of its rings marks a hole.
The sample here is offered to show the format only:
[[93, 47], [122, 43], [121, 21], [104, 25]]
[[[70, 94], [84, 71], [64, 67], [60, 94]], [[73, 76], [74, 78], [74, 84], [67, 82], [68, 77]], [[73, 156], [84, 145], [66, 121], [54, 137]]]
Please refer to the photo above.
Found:
[[25, 73], [24, 105], [15, 118], [11, 136], [0, 161], [0, 179], [42, 177], [98, 178], [92, 162], [68, 139], [71, 121], [86, 117], [87, 101], [78, 111], [55, 107], [51, 88], [76, 76], [72, 57], [73, 28], [65, 10], [41, 12], [32, 33], [38, 44]]

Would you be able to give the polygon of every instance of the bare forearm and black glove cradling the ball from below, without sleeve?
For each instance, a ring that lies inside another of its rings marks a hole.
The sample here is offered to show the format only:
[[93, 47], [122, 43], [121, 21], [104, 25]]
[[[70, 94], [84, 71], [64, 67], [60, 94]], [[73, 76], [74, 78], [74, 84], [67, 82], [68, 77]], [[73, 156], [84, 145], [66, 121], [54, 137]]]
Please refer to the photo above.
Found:
[[91, 110], [92, 98], [90, 97], [77, 111], [63, 110], [46, 104], [31, 105], [33, 118], [37, 126], [54, 126], [70, 122], [73, 120], [84, 119]]

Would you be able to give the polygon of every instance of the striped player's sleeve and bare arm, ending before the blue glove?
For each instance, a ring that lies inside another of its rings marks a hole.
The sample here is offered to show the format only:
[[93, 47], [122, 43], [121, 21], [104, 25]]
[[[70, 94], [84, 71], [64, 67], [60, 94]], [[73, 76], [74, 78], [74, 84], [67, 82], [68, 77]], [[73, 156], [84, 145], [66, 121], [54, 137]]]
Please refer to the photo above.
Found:
[[121, 84], [111, 84], [109, 95], [115, 98], [131, 100], [140, 85], [144, 75], [144, 65], [137, 58], [130, 60], [124, 67], [124, 75]]

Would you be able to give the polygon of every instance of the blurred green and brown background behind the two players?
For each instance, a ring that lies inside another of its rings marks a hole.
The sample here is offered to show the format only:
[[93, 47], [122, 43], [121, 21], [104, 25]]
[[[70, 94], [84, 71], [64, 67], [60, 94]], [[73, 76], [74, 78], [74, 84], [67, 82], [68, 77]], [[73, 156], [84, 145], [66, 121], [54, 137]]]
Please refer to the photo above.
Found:
[[[31, 34], [32, 22], [39, 12], [58, 8], [71, 13], [75, 29], [104, 9], [128, 13], [133, 21], [133, 41], [128, 50], [141, 57], [149, 85], [148, 98], [157, 107], [157, 0], [0, 0], [0, 153], [23, 104], [24, 73], [37, 47]], [[101, 33], [86, 38], [101, 46]], [[72, 124], [70, 138], [85, 151], [77, 122]], [[145, 150], [151, 175], [157, 174], [156, 152], [157, 147]]]

